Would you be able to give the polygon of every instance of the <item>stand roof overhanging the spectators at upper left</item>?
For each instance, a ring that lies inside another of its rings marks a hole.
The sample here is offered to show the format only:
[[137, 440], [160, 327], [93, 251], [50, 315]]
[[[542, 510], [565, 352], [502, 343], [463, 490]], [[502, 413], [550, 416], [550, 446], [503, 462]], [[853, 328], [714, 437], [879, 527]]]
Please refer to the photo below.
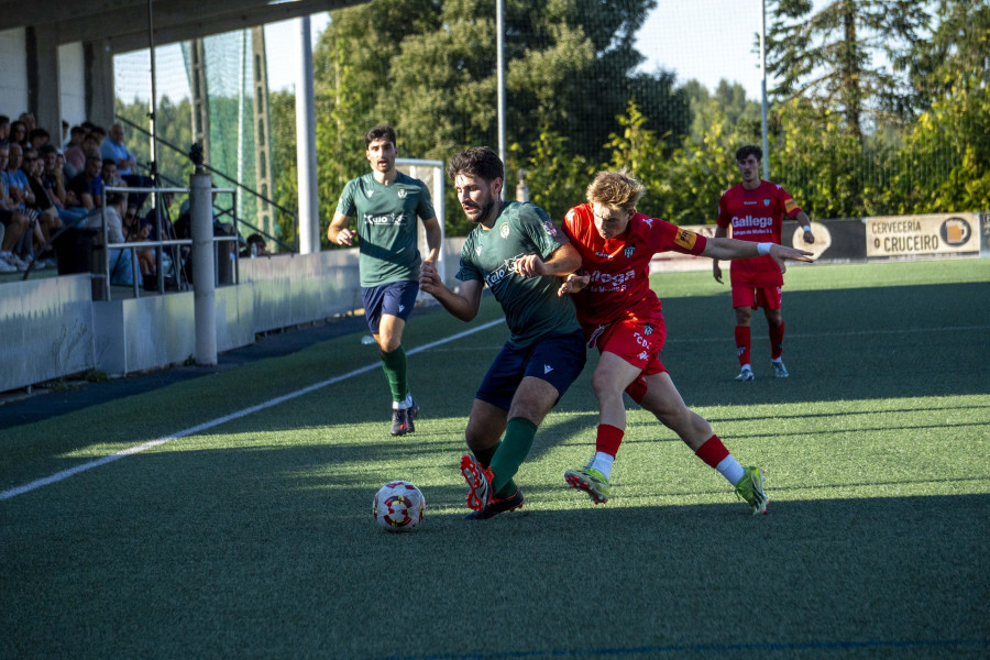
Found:
[[107, 40], [112, 53], [146, 48], [148, 6], [155, 45], [361, 4], [367, 0], [0, 0], [3, 29], [35, 28], [57, 43]]

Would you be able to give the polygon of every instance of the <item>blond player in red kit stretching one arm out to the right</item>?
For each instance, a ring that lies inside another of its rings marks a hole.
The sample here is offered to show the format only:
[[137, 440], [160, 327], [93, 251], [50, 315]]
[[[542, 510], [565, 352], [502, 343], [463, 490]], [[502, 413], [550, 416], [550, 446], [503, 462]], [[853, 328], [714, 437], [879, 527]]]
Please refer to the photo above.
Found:
[[587, 187], [587, 201], [568, 211], [563, 231], [581, 253], [583, 273], [569, 275], [560, 295], [571, 294], [588, 348], [597, 346], [592, 387], [598, 398], [595, 455], [581, 470], [564, 474], [568, 484], [595, 504], [608, 501], [608, 479], [626, 428], [623, 392], [657, 416], [705, 463], [722, 473], [749, 503], [766, 513], [767, 494], [759, 468], [743, 468], [711, 425], [684, 405], [660, 362], [667, 337], [660, 300], [650, 289], [649, 263], [658, 252], [714, 258], [807, 261], [809, 252], [734, 239], [708, 239], [637, 213], [642, 184], [626, 172], [600, 172]]

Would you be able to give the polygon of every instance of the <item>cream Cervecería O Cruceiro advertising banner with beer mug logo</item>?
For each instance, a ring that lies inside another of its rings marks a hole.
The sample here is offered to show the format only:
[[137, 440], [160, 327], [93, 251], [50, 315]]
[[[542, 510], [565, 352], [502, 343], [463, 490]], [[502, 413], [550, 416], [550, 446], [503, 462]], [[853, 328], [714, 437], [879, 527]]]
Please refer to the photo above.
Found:
[[976, 213], [864, 218], [867, 256], [915, 256], [980, 251]]

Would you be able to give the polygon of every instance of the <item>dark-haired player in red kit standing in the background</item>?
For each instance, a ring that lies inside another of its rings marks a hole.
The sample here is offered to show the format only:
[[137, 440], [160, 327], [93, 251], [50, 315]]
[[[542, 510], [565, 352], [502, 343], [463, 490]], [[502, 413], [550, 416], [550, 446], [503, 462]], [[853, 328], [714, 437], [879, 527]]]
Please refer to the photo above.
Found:
[[[798, 220], [804, 228], [804, 242], [814, 243], [807, 213], [801, 210], [788, 191], [770, 182], [760, 179], [760, 161], [763, 152], [758, 146], [748, 144], [736, 152], [736, 165], [743, 175], [743, 183], [733, 186], [718, 200], [718, 228], [715, 235], [727, 235], [733, 228], [733, 238], [756, 243], [769, 242], [780, 244], [783, 217]], [[715, 260], [713, 272], [715, 280], [722, 283], [722, 268]], [[733, 308], [736, 310], [736, 354], [741, 371], [737, 381], [752, 381], [752, 366], [749, 363], [750, 330], [752, 309], [762, 307], [770, 330], [770, 363], [773, 375], [787, 378], [788, 370], [783, 365], [783, 319], [780, 316], [781, 287], [785, 268], [770, 257], [754, 258], [733, 264], [730, 274], [733, 283]]]

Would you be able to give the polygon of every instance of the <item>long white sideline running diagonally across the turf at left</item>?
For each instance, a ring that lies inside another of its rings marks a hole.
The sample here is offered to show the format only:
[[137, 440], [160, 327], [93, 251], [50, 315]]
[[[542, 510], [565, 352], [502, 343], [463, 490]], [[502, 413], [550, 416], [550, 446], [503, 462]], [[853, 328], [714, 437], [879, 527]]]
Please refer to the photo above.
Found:
[[[464, 330], [463, 332], [458, 332], [457, 334], [451, 334], [450, 337], [446, 337], [443, 339], [438, 339], [437, 341], [430, 342], [428, 344], [424, 344], [421, 346], [417, 346], [406, 352], [407, 355], [415, 355], [416, 353], [421, 353], [422, 351], [427, 351], [429, 349], [439, 346], [441, 344], [446, 344], [451, 341], [457, 341], [459, 339], [463, 339], [470, 334], [474, 334], [475, 332], [481, 332], [482, 330], [487, 330], [498, 323], [504, 323], [505, 319], [496, 319], [494, 321], [490, 321], [487, 323], [483, 323], [477, 328], [471, 328], [470, 330]], [[44, 479], [35, 480], [31, 483], [24, 484], [23, 486], [18, 486], [15, 488], [10, 488], [8, 491], [0, 492], [0, 501], [10, 499], [11, 497], [15, 497], [18, 495], [23, 495], [24, 493], [30, 493], [35, 488], [41, 488], [42, 486], [47, 486], [51, 484], [58, 483], [63, 480], [66, 480], [73, 475], [79, 474], [80, 472], [86, 472], [87, 470], [92, 470], [94, 468], [99, 468], [100, 465], [106, 465], [107, 463], [112, 463], [118, 459], [122, 459], [124, 457], [130, 457], [136, 453], [141, 453], [142, 451], [152, 449], [154, 447], [158, 447], [160, 444], [165, 444], [166, 442], [172, 442], [173, 440], [178, 440], [179, 438], [185, 438], [186, 436], [193, 436], [210, 429], [216, 426], [220, 426], [221, 424], [227, 424], [228, 421], [233, 421], [234, 419], [240, 419], [241, 417], [246, 417], [253, 413], [257, 413], [258, 410], [264, 410], [265, 408], [271, 408], [272, 406], [277, 406], [279, 404], [284, 404], [287, 400], [298, 398], [300, 396], [307, 395], [311, 392], [316, 392], [322, 387], [327, 387], [328, 385], [333, 385], [334, 383], [340, 383], [341, 381], [346, 381], [348, 378], [352, 378], [356, 375], [363, 374], [365, 372], [373, 371], [375, 369], [381, 369], [382, 363], [375, 362], [373, 364], [369, 364], [354, 371], [350, 371], [340, 376], [334, 376], [332, 378], [328, 378], [320, 383], [315, 383], [314, 385], [309, 385], [308, 387], [304, 387], [301, 389], [297, 389], [295, 392], [290, 392], [288, 394], [284, 394], [282, 396], [275, 397], [273, 399], [268, 399], [267, 402], [263, 402], [255, 406], [251, 406], [249, 408], [244, 408], [242, 410], [238, 410], [237, 413], [231, 413], [230, 415], [224, 415], [223, 417], [218, 417], [217, 419], [211, 419], [210, 421], [205, 421], [195, 427], [189, 427], [188, 429], [184, 429], [178, 431], [177, 433], [173, 433], [170, 436], [164, 436], [156, 440], [150, 440], [147, 442], [143, 442], [141, 444], [135, 444], [134, 447], [129, 447], [127, 449], [122, 449], [116, 453], [110, 455], [106, 455], [101, 459], [96, 459], [95, 461], [90, 461], [88, 463], [82, 463], [80, 465], [76, 465], [75, 468], [69, 468], [68, 470], [63, 470], [62, 472], [56, 472], [51, 476], [46, 476]]]

